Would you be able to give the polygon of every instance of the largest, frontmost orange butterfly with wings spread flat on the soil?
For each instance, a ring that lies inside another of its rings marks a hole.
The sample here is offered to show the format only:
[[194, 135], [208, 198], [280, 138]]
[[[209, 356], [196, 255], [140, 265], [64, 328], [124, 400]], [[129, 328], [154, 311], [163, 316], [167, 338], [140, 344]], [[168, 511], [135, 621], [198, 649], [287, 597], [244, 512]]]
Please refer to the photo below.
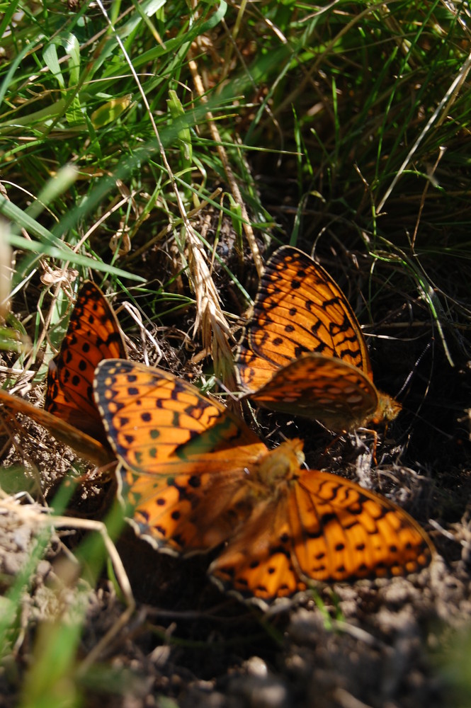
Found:
[[311, 581], [399, 576], [433, 546], [401, 508], [352, 481], [302, 469], [302, 442], [275, 450], [193, 385], [125, 360], [98, 364], [96, 404], [120, 467], [130, 523], [157, 549], [222, 547], [225, 590], [266, 607]]

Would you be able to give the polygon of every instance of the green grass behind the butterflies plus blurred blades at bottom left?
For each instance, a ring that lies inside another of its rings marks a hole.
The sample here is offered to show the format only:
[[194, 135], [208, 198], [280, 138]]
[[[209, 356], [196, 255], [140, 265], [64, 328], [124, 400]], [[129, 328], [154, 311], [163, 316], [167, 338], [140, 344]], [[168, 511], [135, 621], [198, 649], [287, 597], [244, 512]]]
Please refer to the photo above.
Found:
[[[427, 332], [417, 358], [431, 332], [444, 367], [470, 358], [465, 4], [0, 7], [0, 295], [14, 315], [1, 305], [0, 347], [16, 374], [41, 351], [44, 379], [76, 276], [93, 276], [139, 308], [151, 362], [164, 326], [167, 367], [191, 369], [193, 348], [232, 389], [231, 330], [264, 252], [285, 243], [316, 249], [363, 323], [412, 313]], [[120, 322], [137, 339], [130, 309]], [[40, 535], [27, 573], [46, 546]], [[78, 668], [78, 601], [70, 623], [42, 622], [18, 678], [25, 588], [0, 605], [2, 685], [23, 685], [22, 708], [109, 690], [97, 666]]]

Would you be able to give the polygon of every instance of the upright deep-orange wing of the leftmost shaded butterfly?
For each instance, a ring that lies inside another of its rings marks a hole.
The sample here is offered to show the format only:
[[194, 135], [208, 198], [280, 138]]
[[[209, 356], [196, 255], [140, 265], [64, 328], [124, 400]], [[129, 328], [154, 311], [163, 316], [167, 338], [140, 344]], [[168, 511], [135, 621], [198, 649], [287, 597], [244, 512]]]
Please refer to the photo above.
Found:
[[87, 280], [77, 295], [59, 353], [49, 365], [45, 410], [105, 441], [93, 401], [93, 375], [102, 359], [126, 356], [113, 309], [98, 286]]

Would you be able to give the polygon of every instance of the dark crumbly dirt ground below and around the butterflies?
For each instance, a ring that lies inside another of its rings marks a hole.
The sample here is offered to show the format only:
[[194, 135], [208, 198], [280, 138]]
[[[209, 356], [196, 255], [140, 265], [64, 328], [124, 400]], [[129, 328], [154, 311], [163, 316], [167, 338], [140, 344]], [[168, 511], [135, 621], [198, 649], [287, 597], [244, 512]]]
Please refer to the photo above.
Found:
[[[467, 413], [471, 370], [465, 349], [453, 336], [448, 344], [453, 367], [428, 324], [419, 334], [416, 327], [408, 329], [404, 324], [395, 341], [374, 341], [378, 387], [394, 394], [412, 373], [401, 397], [404, 411], [386, 435], [380, 433], [378, 465], [370, 464], [368, 434], [334, 440], [317, 423], [268, 413], [256, 416], [268, 445], [280, 442], [283, 435], [299, 436], [305, 440], [310, 467], [356, 479], [413, 515], [436, 545], [429, 569], [407, 579], [319, 587], [289, 607], [275, 606], [263, 615], [256, 607], [220, 593], [205, 574], [207, 556], [182, 560], [158, 554], [126, 528], [117, 546], [137, 608], [103, 649], [94, 679], [90, 673], [84, 675], [84, 704], [101, 708], [469, 706], [471, 694], [460, 694], [450, 676], [456, 668], [460, 632], [471, 619]], [[191, 372], [188, 362], [181, 358], [179, 362], [175, 373]], [[23, 419], [22, 426], [15, 438], [17, 447], [8, 435], [2, 447], [3, 592], [28, 563], [39, 519], [45, 516], [42, 504], [50, 503], [57, 481], [74, 460], [72, 452], [35, 423]], [[113, 498], [111, 487], [112, 483], [100, 480], [79, 485], [67, 513], [72, 518], [101, 518], [106, 498]], [[14, 496], [25, 490], [30, 496]], [[63, 611], [76, 602], [77, 590], [64, 582], [63, 568], [69, 549], [83, 537], [71, 520], [67, 532], [61, 528], [52, 535], [45, 558], [35, 566], [23, 598], [20, 639], [0, 670], [2, 707], [18, 702], [38, 623], [54, 622], [59, 608]], [[125, 605], [105, 571], [96, 587], [86, 581], [80, 581], [79, 587], [87, 598], [81, 661]]]

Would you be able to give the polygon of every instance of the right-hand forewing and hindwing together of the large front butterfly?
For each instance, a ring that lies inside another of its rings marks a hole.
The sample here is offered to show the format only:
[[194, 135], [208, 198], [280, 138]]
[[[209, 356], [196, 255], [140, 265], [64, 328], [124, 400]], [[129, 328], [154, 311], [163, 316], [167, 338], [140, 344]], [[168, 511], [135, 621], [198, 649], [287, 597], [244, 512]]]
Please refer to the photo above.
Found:
[[427, 566], [431, 541], [404, 510], [335, 474], [302, 470], [254, 508], [210, 573], [260, 603], [310, 581], [402, 576]]

